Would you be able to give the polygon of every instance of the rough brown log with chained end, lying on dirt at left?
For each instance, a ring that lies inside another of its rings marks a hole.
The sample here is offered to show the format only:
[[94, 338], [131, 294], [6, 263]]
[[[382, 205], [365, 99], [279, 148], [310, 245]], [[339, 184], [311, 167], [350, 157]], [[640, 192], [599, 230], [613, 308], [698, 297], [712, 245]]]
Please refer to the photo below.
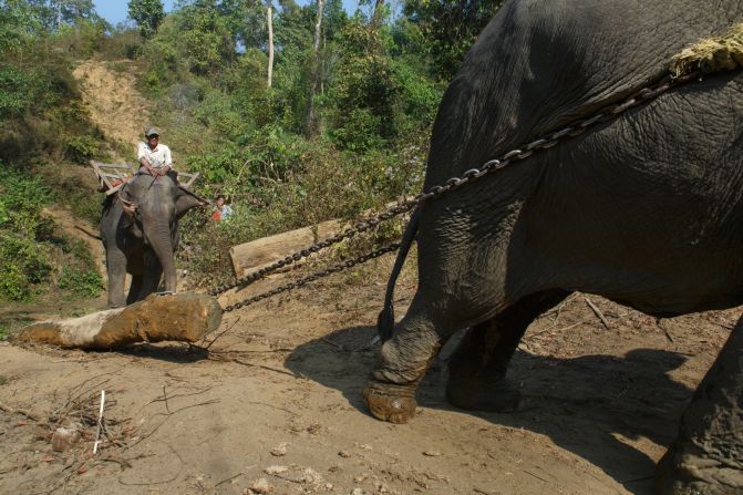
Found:
[[164, 340], [196, 342], [219, 327], [221, 313], [217, 300], [207, 295], [151, 295], [126, 308], [40, 321], [19, 330], [10, 340], [78, 349], [111, 349]]

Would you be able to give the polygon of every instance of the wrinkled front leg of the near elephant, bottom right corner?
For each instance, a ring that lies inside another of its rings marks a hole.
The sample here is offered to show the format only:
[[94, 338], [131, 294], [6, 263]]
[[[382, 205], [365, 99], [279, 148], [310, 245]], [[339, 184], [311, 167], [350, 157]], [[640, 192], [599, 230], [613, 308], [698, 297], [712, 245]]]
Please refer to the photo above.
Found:
[[658, 464], [660, 495], [743, 495], [743, 318], [696, 388]]

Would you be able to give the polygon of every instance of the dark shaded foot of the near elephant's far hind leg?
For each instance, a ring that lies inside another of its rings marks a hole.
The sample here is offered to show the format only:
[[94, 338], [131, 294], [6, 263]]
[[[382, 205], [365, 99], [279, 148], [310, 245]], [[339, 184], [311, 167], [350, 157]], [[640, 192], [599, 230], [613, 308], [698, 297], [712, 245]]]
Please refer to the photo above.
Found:
[[464, 378], [450, 375], [446, 383], [446, 399], [452, 405], [468, 411], [506, 413], [518, 409], [522, 393], [503, 375]]

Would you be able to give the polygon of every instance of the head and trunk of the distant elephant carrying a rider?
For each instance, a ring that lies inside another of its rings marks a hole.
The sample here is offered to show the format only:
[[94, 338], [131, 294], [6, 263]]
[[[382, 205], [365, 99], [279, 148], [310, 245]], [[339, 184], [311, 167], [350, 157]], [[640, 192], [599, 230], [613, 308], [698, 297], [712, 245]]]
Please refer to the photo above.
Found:
[[186, 212], [208, 203], [178, 187], [168, 176], [137, 175], [126, 184], [121, 202], [128, 234], [144, 240], [157, 256], [165, 275], [165, 289], [176, 290], [173, 252], [177, 244], [178, 219]]

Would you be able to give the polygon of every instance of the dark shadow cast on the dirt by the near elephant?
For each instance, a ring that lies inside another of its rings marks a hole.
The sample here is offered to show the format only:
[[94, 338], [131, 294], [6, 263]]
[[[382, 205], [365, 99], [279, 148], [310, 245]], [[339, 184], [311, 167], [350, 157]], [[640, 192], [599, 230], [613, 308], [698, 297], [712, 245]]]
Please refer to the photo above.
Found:
[[[341, 391], [352, 406], [369, 414], [361, 391], [379, 353], [379, 346], [369, 347], [374, 334], [371, 327], [336, 331], [297, 348], [286, 365], [295, 374]], [[317, 352], [318, 346], [333, 352]], [[653, 460], [626, 442], [641, 437], [659, 445], [672, 442], [693, 391], [668, 373], [684, 360], [682, 354], [652, 349], [633, 350], [623, 358], [575, 359], [517, 351], [509, 377], [523, 393], [519, 409], [508, 414], [468, 414], [547, 435], [629, 492], [652, 493]], [[446, 364], [440, 358], [419, 388], [419, 405], [460, 411], [444, 398]]]

